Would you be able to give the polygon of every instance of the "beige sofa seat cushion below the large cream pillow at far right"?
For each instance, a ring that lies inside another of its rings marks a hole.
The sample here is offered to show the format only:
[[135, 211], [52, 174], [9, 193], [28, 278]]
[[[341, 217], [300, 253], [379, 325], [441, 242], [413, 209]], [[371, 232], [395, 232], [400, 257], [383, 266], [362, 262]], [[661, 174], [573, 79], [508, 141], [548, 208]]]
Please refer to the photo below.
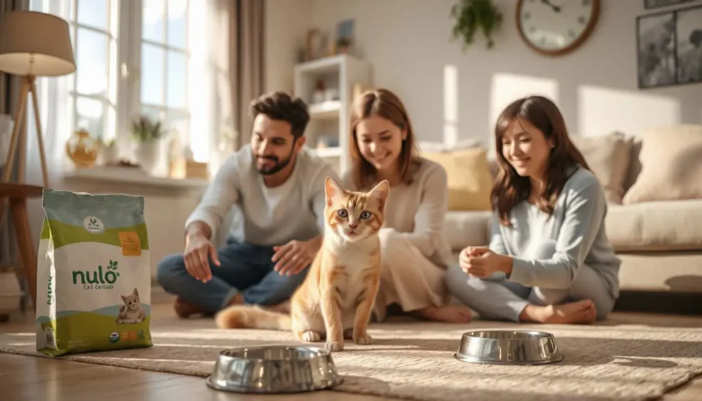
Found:
[[702, 199], [610, 205], [604, 222], [616, 251], [702, 249]]

